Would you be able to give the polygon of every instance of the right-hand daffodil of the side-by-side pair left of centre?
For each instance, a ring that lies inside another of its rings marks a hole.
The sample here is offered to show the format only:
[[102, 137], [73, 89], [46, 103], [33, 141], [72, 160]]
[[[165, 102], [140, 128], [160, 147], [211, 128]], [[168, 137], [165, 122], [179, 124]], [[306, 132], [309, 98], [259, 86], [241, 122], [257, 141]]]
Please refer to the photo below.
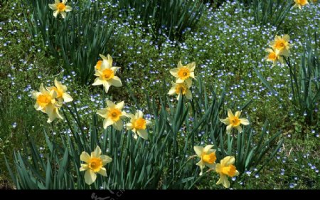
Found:
[[131, 118], [130, 122], [127, 123], [127, 129], [134, 132], [134, 139], [137, 139], [139, 135], [144, 140], [148, 140], [148, 132], [146, 132], [146, 126], [151, 125], [149, 120], [144, 119], [144, 113], [141, 110], [137, 110], [136, 115], [127, 114]]

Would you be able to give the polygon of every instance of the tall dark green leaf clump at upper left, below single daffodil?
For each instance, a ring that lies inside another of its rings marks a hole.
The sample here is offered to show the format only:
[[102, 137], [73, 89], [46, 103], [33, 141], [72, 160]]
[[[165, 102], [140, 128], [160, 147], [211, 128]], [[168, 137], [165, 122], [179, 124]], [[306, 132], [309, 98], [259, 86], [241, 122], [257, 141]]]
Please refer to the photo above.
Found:
[[114, 26], [110, 18], [103, 19], [100, 1], [73, 4], [73, 11], [65, 19], [60, 15], [55, 19], [48, 6], [53, 2], [28, 0], [31, 5], [31, 15], [25, 13], [28, 30], [32, 36], [42, 36], [50, 54], [57, 63], [62, 62], [68, 73], [75, 71], [82, 84], [89, 84], [99, 54], [107, 55], [116, 45]]

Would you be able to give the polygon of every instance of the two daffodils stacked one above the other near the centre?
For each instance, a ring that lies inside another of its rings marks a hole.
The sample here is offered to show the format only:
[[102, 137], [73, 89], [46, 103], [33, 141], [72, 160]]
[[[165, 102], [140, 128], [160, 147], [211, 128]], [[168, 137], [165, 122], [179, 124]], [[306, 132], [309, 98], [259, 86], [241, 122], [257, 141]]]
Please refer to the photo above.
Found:
[[177, 68], [171, 69], [170, 73], [176, 78], [176, 83], [172, 82], [172, 87], [169, 90], [169, 95], [178, 95], [177, 100], [180, 95], [185, 95], [188, 100], [192, 98], [191, 94], [191, 78], [194, 77], [194, 69], [196, 68], [196, 63], [188, 63], [183, 66], [181, 61], [178, 62]]

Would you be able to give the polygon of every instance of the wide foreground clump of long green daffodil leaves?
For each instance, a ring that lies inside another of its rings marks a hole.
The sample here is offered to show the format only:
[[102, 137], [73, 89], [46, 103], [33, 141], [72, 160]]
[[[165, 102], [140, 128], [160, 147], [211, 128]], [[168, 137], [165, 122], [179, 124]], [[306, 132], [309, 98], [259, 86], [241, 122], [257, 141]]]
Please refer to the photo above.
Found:
[[[129, 86], [128, 86], [129, 87]], [[228, 136], [228, 151], [224, 150], [223, 138], [225, 127], [220, 126], [219, 109], [223, 105], [223, 97], [218, 100], [214, 96], [209, 101], [205, 88], [199, 80], [199, 89], [195, 91], [198, 98], [185, 103], [183, 98], [174, 105], [169, 98], [149, 98], [146, 95], [149, 112], [154, 115], [154, 125], [148, 129], [149, 140], [144, 141], [139, 137], [134, 140], [131, 131], [118, 131], [112, 127], [106, 130], [100, 129], [101, 123], [97, 115], [92, 115], [89, 134], [82, 130], [81, 118], [78, 115], [75, 104], [73, 109], [67, 107], [69, 114], [63, 110], [65, 120], [72, 132], [70, 135], [60, 135], [60, 138], [50, 138], [46, 135], [48, 154], [41, 157], [36, 143], [32, 137], [28, 137], [26, 152], [14, 154], [15, 170], [11, 170], [6, 161], [11, 178], [18, 189], [99, 189], [107, 188], [123, 189], [186, 189], [192, 187], [198, 177], [198, 167], [194, 159], [188, 159], [187, 155], [195, 154], [193, 146], [202, 140], [212, 139], [218, 148], [218, 159], [225, 155], [232, 155]], [[131, 93], [132, 94], [132, 93]], [[224, 95], [223, 95], [224, 96]], [[134, 95], [132, 95], [134, 99]], [[137, 100], [134, 100], [137, 102]], [[137, 105], [139, 107], [139, 105]], [[243, 106], [243, 108], [245, 108]], [[192, 121], [188, 117], [191, 108]], [[203, 112], [204, 110], [204, 112]], [[54, 126], [53, 126], [54, 128]], [[181, 130], [186, 136], [181, 137]], [[198, 132], [204, 131], [200, 137]], [[275, 149], [272, 142], [279, 136], [273, 135], [270, 140], [262, 143], [265, 132], [262, 132], [256, 147], [252, 147], [252, 130], [249, 135], [235, 137], [237, 144], [238, 161], [236, 166], [240, 172], [256, 167], [261, 163], [267, 152], [272, 150], [269, 161], [274, 157], [281, 142]], [[100, 134], [100, 132], [102, 132]], [[216, 137], [217, 133], [220, 133]], [[220, 144], [219, 144], [220, 142]], [[102, 152], [112, 157], [111, 164], [107, 165], [107, 178], [99, 177], [95, 184], [87, 186], [83, 173], [79, 172], [80, 154], [82, 151], [92, 152], [96, 146], [101, 147]], [[31, 159], [28, 159], [31, 157]]]

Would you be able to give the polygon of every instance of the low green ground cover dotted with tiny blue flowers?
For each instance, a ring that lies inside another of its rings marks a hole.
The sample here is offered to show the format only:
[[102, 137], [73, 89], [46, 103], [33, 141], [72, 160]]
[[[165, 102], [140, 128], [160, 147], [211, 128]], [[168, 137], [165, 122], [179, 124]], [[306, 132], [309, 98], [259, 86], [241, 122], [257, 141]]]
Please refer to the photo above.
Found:
[[[22, 150], [25, 144], [26, 131], [37, 139], [39, 149], [45, 151], [42, 130], [50, 130], [50, 125], [46, 123], [46, 116], [33, 109], [34, 101], [30, 95], [32, 90], [38, 90], [40, 83], [53, 83], [55, 77], [63, 80], [79, 107], [83, 122], [88, 121], [90, 113], [102, 107], [102, 88], [80, 85], [75, 74], [65, 73], [62, 63], [50, 57], [40, 36], [29, 35], [23, 19], [23, 9], [27, 5], [19, 1], [2, 1], [0, 5], [0, 154], [12, 160], [13, 150]], [[320, 33], [319, 21], [314, 20], [320, 17], [319, 4], [310, 4], [302, 11], [292, 9], [278, 29], [268, 24], [257, 25], [254, 12], [235, 1], [207, 9], [196, 29], [183, 34], [183, 41], [171, 41], [166, 31], [156, 33], [158, 40], [155, 41], [152, 33], [148, 33], [137, 19], [124, 21], [118, 16], [117, 28], [121, 28], [122, 33], [112, 57], [115, 65], [122, 67], [119, 77], [131, 86], [139, 102], [145, 105], [144, 93], [164, 95], [163, 84], [169, 90], [172, 79], [169, 70], [178, 60], [183, 63], [196, 61], [196, 76], [204, 83], [215, 85], [218, 93], [226, 85], [225, 107], [232, 104], [237, 107], [253, 100], [245, 112], [250, 116], [252, 126], [261, 127], [267, 119], [270, 134], [282, 130], [286, 138], [277, 157], [260, 174], [255, 174], [254, 169], [246, 172], [241, 180], [231, 181], [231, 187], [320, 189], [319, 130], [304, 124], [304, 117], [295, 115], [293, 110], [283, 109], [292, 106], [289, 78], [286, 77], [289, 72], [284, 66], [271, 68], [271, 64], [263, 59], [264, 49], [275, 34], [288, 33], [294, 43], [291, 57], [294, 63], [298, 63], [304, 36]], [[262, 85], [253, 66], [258, 66], [262, 74], [272, 80], [270, 83], [283, 99], [282, 105]], [[125, 99], [128, 105], [133, 104], [123, 90], [110, 88], [110, 94], [114, 101]], [[56, 130], [69, 134], [70, 130], [63, 122], [56, 125]], [[215, 176], [206, 175], [196, 188], [220, 189], [215, 185], [218, 178]], [[9, 174], [1, 162], [0, 188], [8, 187], [8, 181]]]

